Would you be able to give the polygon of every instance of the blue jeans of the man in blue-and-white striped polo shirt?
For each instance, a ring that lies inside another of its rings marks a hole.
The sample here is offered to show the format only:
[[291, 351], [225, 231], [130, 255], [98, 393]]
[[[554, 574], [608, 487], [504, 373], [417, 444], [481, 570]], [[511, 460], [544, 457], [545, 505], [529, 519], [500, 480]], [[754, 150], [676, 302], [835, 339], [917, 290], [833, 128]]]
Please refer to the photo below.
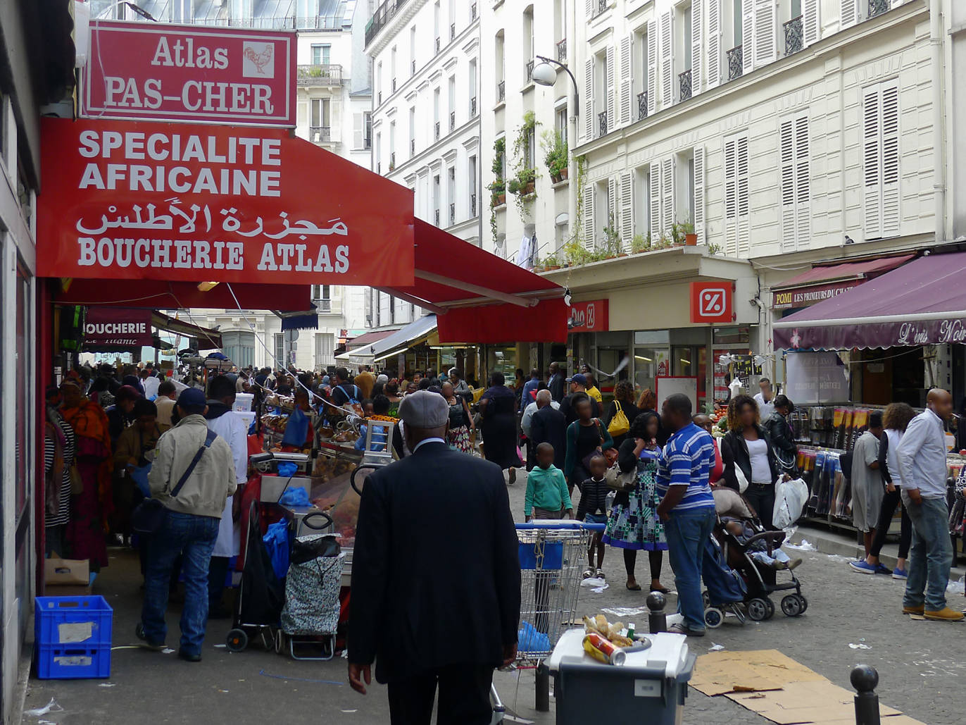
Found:
[[704, 542], [715, 526], [714, 508], [671, 511], [665, 524], [668, 559], [677, 586], [677, 611], [684, 625], [704, 631], [704, 602], [701, 600], [701, 559]]

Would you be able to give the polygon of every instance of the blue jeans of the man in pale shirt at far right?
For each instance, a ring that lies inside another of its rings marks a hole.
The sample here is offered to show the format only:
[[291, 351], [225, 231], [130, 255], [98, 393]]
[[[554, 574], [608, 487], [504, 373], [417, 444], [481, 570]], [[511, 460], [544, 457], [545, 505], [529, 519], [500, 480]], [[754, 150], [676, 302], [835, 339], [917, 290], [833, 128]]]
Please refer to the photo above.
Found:
[[905, 491], [902, 492], [902, 507], [912, 521], [909, 578], [902, 606], [924, 605], [925, 611], [938, 612], [946, 606], [946, 587], [952, 566], [949, 507], [946, 499], [923, 499], [922, 504], [913, 504]]

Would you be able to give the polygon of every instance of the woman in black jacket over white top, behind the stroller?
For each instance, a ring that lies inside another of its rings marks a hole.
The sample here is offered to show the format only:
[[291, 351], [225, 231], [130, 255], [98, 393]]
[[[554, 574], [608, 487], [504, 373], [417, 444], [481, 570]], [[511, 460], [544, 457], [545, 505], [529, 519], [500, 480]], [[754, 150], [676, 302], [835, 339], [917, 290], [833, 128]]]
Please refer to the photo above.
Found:
[[721, 444], [725, 485], [740, 491], [739, 478], [748, 481], [748, 488], [743, 492], [745, 498], [757, 511], [762, 526], [772, 529], [775, 482], [780, 469], [772, 442], [758, 422], [758, 406], [751, 396], [741, 394], [731, 398], [727, 406], [727, 427]]

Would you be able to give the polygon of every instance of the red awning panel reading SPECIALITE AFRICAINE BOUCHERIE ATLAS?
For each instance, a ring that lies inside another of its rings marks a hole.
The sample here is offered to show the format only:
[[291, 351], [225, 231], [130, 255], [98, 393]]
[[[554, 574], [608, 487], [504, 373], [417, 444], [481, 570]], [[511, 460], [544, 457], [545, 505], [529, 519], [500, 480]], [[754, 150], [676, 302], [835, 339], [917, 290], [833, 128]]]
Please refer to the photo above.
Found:
[[412, 284], [412, 191], [286, 131], [42, 124], [39, 275]]

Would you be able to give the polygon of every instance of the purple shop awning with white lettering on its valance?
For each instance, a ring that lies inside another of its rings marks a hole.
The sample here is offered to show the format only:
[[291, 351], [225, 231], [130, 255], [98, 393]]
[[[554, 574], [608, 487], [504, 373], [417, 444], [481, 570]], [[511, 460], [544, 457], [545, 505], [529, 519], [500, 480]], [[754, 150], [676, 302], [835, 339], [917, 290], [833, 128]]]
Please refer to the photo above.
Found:
[[966, 342], [966, 252], [931, 254], [776, 322], [776, 349]]

